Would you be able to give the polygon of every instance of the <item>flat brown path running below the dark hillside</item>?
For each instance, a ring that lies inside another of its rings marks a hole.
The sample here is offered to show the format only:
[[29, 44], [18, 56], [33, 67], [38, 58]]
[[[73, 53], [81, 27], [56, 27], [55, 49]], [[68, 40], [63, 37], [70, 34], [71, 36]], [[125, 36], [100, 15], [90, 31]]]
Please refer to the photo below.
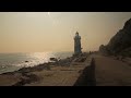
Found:
[[131, 66], [114, 58], [95, 58], [96, 86], [131, 86]]

